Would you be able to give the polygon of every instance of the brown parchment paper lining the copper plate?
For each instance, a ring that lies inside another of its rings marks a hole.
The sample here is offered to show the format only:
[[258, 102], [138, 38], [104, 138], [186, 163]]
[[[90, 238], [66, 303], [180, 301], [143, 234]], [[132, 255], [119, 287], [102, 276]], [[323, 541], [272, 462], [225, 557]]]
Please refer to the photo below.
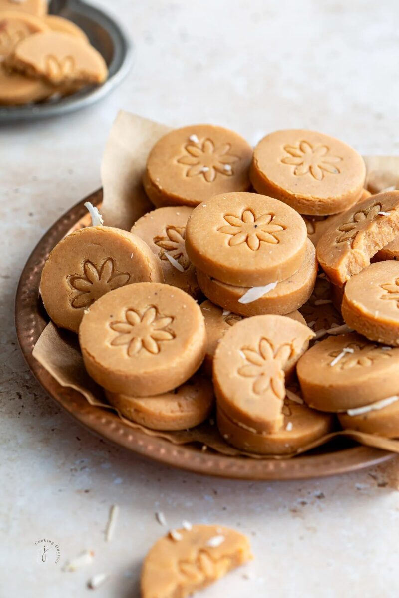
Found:
[[[155, 123], [130, 112], [118, 113], [106, 143], [101, 166], [103, 184], [101, 212], [105, 225], [130, 230], [138, 218], [154, 209], [145, 196], [141, 179], [151, 147], [168, 130], [169, 127], [164, 124]], [[376, 179], [374, 192], [382, 190], [376, 188], [376, 185], [398, 186], [399, 157], [372, 156], [364, 160], [368, 178], [373, 181], [374, 178]], [[381, 173], [383, 176], [380, 176]], [[399, 440], [349, 430], [331, 432], [289, 456], [260, 456], [234, 449], [223, 440], [217, 426], [212, 426], [210, 423], [204, 423], [187, 431], [154, 431], [130, 422], [106, 402], [103, 390], [89, 377], [84, 368], [75, 335], [59, 331], [50, 323], [37, 341], [33, 356], [61, 386], [77, 390], [91, 405], [116, 411], [128, 426], [138, 428], [149, 436], [166, 438], [173, 444], [200, 443], [221, 454], [244, 455], [252, 459], [287, 459], [325, 444], [337, 436], [345, 436], [366, 446], [399, 453]]]

